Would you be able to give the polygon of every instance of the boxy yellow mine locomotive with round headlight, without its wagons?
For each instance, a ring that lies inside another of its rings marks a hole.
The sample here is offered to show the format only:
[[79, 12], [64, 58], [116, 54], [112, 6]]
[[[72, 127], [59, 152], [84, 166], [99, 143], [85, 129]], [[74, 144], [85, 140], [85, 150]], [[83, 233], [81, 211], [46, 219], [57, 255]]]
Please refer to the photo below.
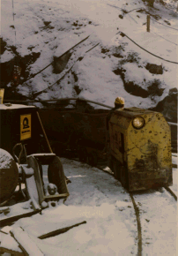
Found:
[[116, 109], [109, 121], [109, 167], [129, 191], [172, 184], [171, 134], [162, 114]]

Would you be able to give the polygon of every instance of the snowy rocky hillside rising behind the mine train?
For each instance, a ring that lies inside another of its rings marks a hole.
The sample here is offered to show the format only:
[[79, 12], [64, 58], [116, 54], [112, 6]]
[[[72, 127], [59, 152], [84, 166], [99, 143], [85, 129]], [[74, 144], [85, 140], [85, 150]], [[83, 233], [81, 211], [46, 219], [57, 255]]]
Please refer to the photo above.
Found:
[[[172, 112], [176, 111], [178, 12], [174, 0], [156, 0], [154, 8], [141, 0], [15, 0], [13, 5], [14, 21], [11, 0], [3, 0], [1, 6], [6, 99], [18, 99], [19, 94], [42, 100], [84, 97], [113, 106], [120, 95], [127, 107], [153, 108], [169, 96], [174, 102]], [[150, 33], [146, 32], [148, 13]], [[63, 72], [55, 71], [54, 57], [88, 35], [59, 61]], [[14, 64], [22, 68], [18, 87], [11, 87]], [[36, 72], [40, 73], [29, 79]]]

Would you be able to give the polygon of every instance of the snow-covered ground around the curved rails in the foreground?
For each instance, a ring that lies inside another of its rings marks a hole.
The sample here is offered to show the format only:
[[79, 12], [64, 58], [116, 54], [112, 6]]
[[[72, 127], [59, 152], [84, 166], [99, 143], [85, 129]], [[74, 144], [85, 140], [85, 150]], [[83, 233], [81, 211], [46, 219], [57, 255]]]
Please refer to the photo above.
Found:
[[[177, 154], [173, 156], [177, 163]], [[137, 220], [130, 195], [120, 182], [100, 169], [85, 163], [61, 159], [70, 196], [57, 207], [49, 207], [42, 215], [16, 222], [24, 228], [45, 255], [137, 255]], [[44, 166], [44, 180], [48, 182]], [[173, 169], [177, 193], [177, 169]], [[143, 255], [176, 255], [176, 202], [164, 189], [136, 193], [140, 211]], [[6, 216], [25, 213], [29, 201], [11, 207]], [[56, 237], [40, 240], [45, 230], [56, 230], [86, 221]], [[13, 226], [12, 226], [13, 227]], [[11, 238], [10, 238], [11, 239]], [[11, 241], [11, 240], [10, 240]], [[4, 244], [13, 248], [13, 243]]]

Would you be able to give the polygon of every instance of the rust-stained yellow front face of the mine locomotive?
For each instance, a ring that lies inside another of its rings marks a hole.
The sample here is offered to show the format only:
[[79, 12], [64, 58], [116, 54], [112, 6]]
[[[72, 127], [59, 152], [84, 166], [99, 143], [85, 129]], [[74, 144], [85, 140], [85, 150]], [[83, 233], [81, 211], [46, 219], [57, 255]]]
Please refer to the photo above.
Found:
[[128, 169], [130, 189], [172, 184], [171, 136], [165, 118], [156, 112], [143, 115], [145, 126], [136, 130], [130, 125]]

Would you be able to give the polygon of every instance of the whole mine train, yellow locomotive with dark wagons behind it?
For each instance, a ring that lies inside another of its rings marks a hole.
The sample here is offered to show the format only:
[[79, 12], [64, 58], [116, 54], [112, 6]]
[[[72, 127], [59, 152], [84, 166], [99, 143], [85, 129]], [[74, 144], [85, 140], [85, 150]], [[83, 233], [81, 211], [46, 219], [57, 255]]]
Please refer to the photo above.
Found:
[[74, 152], [92, 166], [104, 159], [129, 191], [172, 184], [171, 132], [159, 112], [136, 107], [109, 112], [77, 105], [41, 109], [40, 116], [55, 152]]

